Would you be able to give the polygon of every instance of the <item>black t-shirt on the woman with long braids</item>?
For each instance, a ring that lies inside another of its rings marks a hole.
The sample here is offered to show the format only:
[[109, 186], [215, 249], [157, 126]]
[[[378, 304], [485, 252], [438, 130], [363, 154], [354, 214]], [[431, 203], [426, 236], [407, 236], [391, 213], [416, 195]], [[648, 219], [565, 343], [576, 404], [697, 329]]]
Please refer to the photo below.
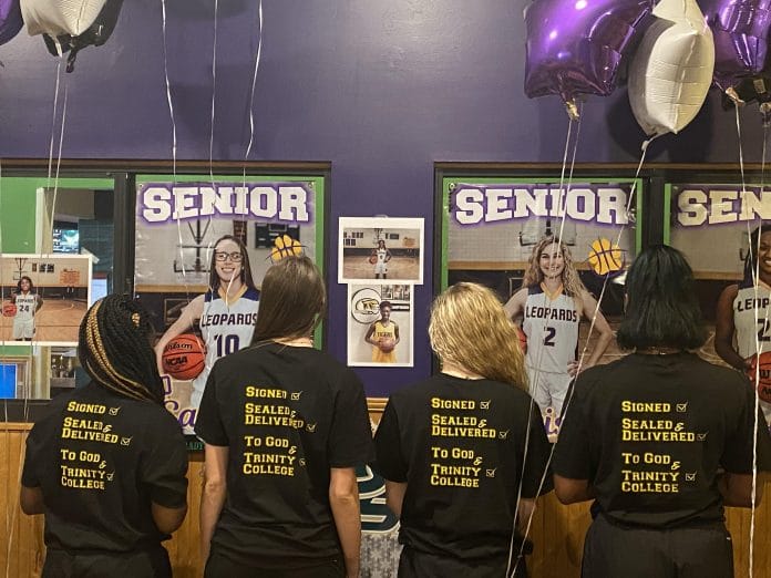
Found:
[[187, 450], [158, 404], [90, 383], [56, 396], [27, 438], [22, 485], [40, 487], [45, 544], [69, 551], [157, 546], [151, 503], [183, 507]]

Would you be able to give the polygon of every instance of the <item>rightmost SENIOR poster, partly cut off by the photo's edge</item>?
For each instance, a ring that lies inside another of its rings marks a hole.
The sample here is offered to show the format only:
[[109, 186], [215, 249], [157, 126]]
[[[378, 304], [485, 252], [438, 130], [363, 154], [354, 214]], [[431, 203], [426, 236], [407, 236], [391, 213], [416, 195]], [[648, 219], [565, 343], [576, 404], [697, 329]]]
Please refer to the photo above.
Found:
[[[709, 339], [699, 354], [757, 382], [771, 419], [771, 197], [758, 185], [670, 184], [665, 241], [693, 269]], [[757, 365], [760, 368], [757, 368]]]

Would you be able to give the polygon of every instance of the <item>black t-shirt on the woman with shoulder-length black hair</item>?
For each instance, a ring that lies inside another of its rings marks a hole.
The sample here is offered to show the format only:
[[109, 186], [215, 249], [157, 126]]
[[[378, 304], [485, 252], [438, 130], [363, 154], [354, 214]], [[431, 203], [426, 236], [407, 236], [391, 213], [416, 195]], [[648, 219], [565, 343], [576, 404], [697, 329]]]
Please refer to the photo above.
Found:
[[[718, 469], [752, 472], [754, 394], [739, 372], [692, 353], [631, 354], [576, 381], [554, 472], [588, 479], [595, 512], [628, 525], [670, 527], [723, 518]], [[758, 414], [758, 469], [771, 438]]]

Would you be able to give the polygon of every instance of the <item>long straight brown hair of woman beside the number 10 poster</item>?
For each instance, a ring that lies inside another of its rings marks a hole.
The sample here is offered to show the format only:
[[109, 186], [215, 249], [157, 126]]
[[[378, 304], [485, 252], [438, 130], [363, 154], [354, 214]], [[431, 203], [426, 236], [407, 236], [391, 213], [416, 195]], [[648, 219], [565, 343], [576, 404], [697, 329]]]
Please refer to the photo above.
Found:
[[309, 337], [327, 302], [323, 279], [306, 256], [286, 257], [265, 273], [251, 343]]

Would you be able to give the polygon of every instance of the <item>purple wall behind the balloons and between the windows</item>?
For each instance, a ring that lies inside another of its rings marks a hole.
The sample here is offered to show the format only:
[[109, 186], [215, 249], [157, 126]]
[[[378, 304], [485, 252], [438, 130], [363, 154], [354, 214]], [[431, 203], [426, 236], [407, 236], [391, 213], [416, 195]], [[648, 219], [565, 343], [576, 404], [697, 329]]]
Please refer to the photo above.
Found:
[[[178, 158], [207, 159], [213, 0], [167, 0], [168, 70]], [[248, 140], [256, 0], [219, 2], [214, 156], [238, 161]], [[432, 251], [435, 161], [562, 161], [567, 118], [557, 97], [523, 93], [523, 3], [511, 0], [265, 0], [253, 159], [330, 161], [337, 218], [426, 219]], [[48, 157], [56, 60], [22, 31], [0, 47], [0, 156]], [[69, 84], [63, 156], [171, 158], [160, 0], [126, 0], [107, 44], [80, 53]], [[62, 89], [63, 90], [63, 89]], [[744, 154], [762, 131], [744, 116]], [[710, 99], [649, 161], [737, 162], [733, 113]], [[579, 162], [636, 162], [642, 133], [626, 89], [589, 99]], [[335, 237], [336, 238], [336, 237]], [[329, 273], [329, 350], [346, 358], [346, 289]], [[371, 395], [430, 372], [425, 326], [431, 259], [415, 292], [415, 368], [361, 370]]]

